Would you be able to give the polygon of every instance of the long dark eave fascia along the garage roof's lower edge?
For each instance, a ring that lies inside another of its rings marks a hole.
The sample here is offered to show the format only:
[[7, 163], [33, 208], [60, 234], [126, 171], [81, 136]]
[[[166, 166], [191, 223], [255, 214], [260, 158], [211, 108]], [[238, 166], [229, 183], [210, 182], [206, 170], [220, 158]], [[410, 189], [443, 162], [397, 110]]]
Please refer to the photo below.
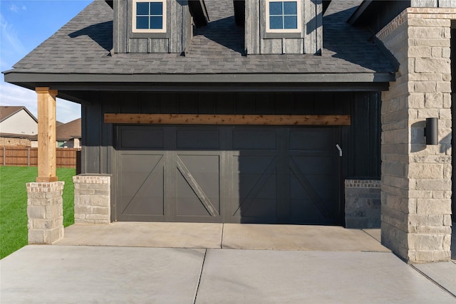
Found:
[[58, 98], [90, 104], [86, 95], [98, 92], [160, 93], [303, 93], [380, 92], [389, 89], [393, 73], [341, 74], [217, 74], [217, 75], [43, 75], [10, 73], [9, 83], [34, 90], [48, 86]]

